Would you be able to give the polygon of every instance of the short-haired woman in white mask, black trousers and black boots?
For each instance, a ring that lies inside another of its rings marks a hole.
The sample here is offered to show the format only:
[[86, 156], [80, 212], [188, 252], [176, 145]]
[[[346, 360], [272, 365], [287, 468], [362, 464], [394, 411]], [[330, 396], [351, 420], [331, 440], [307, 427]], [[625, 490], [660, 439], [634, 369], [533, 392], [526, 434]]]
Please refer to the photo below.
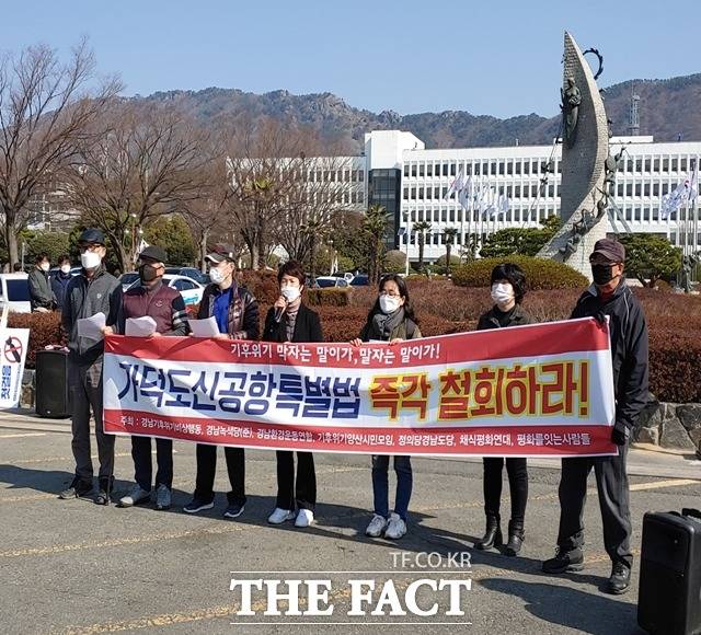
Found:
[[[478, 331], [504, 328], [532, 324], [533, 320], [521, 309], [526, 295], [526, 276], [518, 265], [505, 263], [492, 270], [492, 300], [494, 307], [478, 322]], [[485, 457], [484, 462], [484, 513], [486, 531], [476, 549], [489, 550], [503, 544], [499, 507], [502, 499], [502, 470], [506, 463], [512, 497], [512, 518], [508, 522], [506, 555], [515, 556], [524, 542], [524, 521], [528, 500], [528, 467], [526, 459], [518, 457]]]

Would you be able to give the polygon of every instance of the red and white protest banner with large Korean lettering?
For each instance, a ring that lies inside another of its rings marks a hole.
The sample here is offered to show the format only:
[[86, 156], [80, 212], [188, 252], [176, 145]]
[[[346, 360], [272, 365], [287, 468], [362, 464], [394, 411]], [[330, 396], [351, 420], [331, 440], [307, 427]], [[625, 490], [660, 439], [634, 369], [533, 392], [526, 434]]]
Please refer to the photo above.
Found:
[[105, 340], [116, 435], [376, 454], [614, 454], [608, 326], [571, 320], [389, 344]]

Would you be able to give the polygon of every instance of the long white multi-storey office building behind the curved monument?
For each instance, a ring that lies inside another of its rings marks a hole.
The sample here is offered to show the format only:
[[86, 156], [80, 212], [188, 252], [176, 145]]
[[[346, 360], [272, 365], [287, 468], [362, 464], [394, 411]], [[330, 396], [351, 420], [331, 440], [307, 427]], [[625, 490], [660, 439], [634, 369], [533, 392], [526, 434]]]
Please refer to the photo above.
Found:
[[[613, 196], [614, 227], [609, 233], [655, 233], [675, 244], [682, 244], [687, 210], [664, 219], [663, 196], [690, 175], [701, 157], [701, 142], [655, 143], [652, 137], [625, 137], [611, 140], [611, 153], [624, 148], [622, 166], [616, 177]], [[539, 227], [549, 216], [559, 213], [560, 146], [514, 146], [508, 148], [460, 148], [426, 150], [421, 139], [410, 132], [382, 130], [365, 136], [365, 160], [369, 205], [383, 205], [394, 216], [394, 246], [407, 251], [410, 261], [418, 259], [413, 226], [430, 224], [424, 258], [433, 262], [445, 255], [446, 228], [458, 229], [453, 253], [468, 243], [470, 234], [489, 235], [503, 228]], [[545, 174], [550, 163], [551, 172]], [[506, 197], [508, 209], [485, 218], [474, 203], [463, 209], [451, 195], [452, 181], [463, 174], [473, 187], [492, 189]], [[547, 178], [543, 181], [543, 177]], [[689, 210], [689, 218], [692, 211]], [[680, 227], [681, 226], [681, 229]], [[681, 234], [680, 234], [681, 232]], [[701, 246], [701, 236], [687, 239]]]

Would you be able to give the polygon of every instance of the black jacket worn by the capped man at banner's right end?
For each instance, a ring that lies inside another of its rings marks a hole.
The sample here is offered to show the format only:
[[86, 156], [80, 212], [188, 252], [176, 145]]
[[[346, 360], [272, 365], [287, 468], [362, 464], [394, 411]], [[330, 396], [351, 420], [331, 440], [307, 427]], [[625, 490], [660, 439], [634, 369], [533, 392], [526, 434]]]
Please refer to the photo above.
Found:
[[607, 300], [601, 299], [593, 285], [572, 312], [573, 319], [602, 315], [610, 315], [616, 427], [632, 429], [648, 399], [647, 323], [643, 308], [624, 279]]

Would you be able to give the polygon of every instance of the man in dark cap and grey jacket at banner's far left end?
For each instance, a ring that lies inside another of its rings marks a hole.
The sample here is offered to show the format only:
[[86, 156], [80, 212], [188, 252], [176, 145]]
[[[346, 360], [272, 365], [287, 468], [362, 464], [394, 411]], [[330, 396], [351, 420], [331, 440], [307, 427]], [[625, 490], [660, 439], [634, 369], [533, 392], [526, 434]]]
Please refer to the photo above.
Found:
[[90, 411], [95, 418], [97, 457], [100, 459], [99, 492], [95, 503], [107, 505], [114, 480], [114, 436], [102, 427], [102, 362], [104, 340], [78, 334], [78, 320], [104, 313], [105, 323], [113, 325], [122, 308], [122, 286], [107, 273], [103, 261], [107, 253], [105, 234], [88, 228], [78, 241], [82, 272], [68, 284], [61, 319], [68, 334], [69, 382], [72, 393], [72, 450], [76, 476], [59, 498], [84, 496], [93, 488], [90, 453]]

